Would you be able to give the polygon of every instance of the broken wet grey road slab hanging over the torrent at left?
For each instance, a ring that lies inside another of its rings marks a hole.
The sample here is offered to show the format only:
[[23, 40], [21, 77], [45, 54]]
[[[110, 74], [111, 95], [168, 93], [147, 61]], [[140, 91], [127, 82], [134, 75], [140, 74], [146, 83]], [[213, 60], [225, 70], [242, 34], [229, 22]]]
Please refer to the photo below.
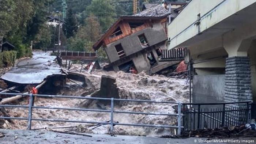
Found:
[[56, 56], [50, 53], [33, 52], [33, 58], [20, 61], [1, 79], [20, 84], [38, 84], [50, 75], [60, 74], [60, 66], [54, 61]]

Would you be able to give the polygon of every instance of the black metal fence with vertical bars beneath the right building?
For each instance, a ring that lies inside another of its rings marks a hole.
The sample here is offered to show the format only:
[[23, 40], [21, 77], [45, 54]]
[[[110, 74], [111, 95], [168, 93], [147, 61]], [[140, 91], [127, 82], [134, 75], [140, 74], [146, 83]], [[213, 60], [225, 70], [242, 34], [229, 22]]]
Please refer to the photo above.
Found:
[[184, 131], [239, 126], [249, 122], [251, 102], [184, 103], [181, 112]]

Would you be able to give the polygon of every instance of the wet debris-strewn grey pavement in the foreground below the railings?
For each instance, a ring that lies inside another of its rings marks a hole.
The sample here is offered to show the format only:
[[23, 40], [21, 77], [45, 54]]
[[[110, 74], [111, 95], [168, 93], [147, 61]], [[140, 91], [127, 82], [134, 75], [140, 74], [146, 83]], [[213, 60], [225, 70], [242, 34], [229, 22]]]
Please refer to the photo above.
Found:
[[[89, 134], [92, 137], [87, 137], [49, 131], [6, 129], [0, 129], [0, 136], [1, 133], [4, 134], [3, 137], [0, 137], [1, 144], [207, 144], [207, 140], [213, 140], [207, 138], [163, 139], [159, 137], [110, 136], [98, 134]], [[248, 142], [241, 142], [241, 140], [254, 141], [251, 142], [253, 144], [256, 139], [253, 137], [231, 140], [233, 140], [233, 142], [208, 142], [208, 144], [248, 144]]]

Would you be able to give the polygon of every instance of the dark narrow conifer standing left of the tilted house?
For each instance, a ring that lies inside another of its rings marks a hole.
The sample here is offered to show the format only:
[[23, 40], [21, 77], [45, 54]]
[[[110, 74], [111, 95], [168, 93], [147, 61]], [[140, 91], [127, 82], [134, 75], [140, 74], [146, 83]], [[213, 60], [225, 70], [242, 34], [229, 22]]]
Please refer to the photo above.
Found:
[[74, 37], [75, 33], [78, 30], [78, 21], [72, 9], [68, 9], [67, 18], [65, 18], [65, 23], [63, 30], [67, 31], [67, 38]]

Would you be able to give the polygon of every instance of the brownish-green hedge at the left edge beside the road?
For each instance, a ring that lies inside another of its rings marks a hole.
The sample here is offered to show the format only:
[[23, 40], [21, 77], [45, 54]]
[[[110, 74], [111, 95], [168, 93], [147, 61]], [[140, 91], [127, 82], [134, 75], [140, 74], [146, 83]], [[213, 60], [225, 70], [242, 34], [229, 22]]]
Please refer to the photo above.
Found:
[[4, 51], [0, 53], [0, 67], [11, 67], [15, 64], [17, 52]]

